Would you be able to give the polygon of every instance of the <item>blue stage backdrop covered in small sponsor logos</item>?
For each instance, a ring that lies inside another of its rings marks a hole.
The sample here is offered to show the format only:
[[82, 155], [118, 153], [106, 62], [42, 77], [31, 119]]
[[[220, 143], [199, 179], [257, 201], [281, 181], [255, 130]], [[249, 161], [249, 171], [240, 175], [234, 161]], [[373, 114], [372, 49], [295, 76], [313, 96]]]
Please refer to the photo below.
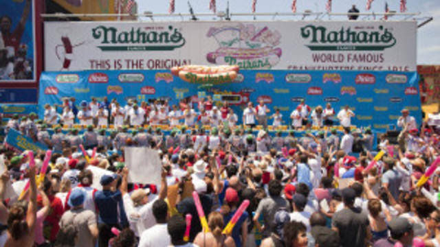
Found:
[[[232, 83], [203, 87], [177, 78], [169, 71], [80, 71], [44, 72], [40, 79], [39, 105], [61, 104], [63, 97], [90, 101], [92, 96], [115, 98], [125, 104], [129, 98], [138, 101], [161, 98], [170, 104], [189, 97], [213, 95], [214, 101], [228, 101], [241, 121], [242, 109], [249, 101], [264, 99], [280, 108], [284, 124], [301, 99], [315, 107], [330, 102], [336, 111], [349, 104], [356, 117], [353, 124], [385, 129], [396, 125], [402, 108], [420, 123], [421, 107], [415, 72], [364, 71], [240, 71]], [[43, 107], [39, 115], [43, 117]], [[271, 113], [271, 114], [272, 114]], [[272, 123], [272, 121], [270, 121]]]

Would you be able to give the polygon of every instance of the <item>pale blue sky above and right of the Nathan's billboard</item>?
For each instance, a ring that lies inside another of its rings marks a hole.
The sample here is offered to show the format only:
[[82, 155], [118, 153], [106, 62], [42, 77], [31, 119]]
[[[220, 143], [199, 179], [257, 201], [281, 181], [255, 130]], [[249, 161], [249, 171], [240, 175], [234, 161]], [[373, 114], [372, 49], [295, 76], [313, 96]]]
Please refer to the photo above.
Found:
[[[175, 13], [188, 14], [188, 1], [175, 0]], [[196, 16], [197, 13], [210, 13], [210, 0], [189, 0]], [[230, 0], [231, 13], [250, 13], [252, 0]], [[366, 0], [333, 0], [332, 12], [347, 12], [352, 4], [355, 4], [360, 12], [384, 12], [385, 3], [388, 3], [390, 10], [399, 12], [400, 0], [374, 0], [371, 10], [366, 11]], [[327, 0], [297, 0], [297, 12], [311, 10], [313, 12], [326, 12], [325, 4]], [[151, 11], [155, 14], [168, 13], [168, 0], [137, 0], [138, 12]], [[227, 0], [217, 0], [217, 11], [225, 10]], [[292, 0], [257, 0], [256, 12], [291, 12]], [[440, 64], [440, 0], [407, 0], [407, 12], [420, 12], [417, 19], [425, 16], [432, 16], [434, 20], [420, 27], [417, 30], [417, 64]], [[185, 17], [188, 20], [188, 17]], [[399, 17], [402, 19], [403, 17]], [[214, 16], [203, 17], [200, 19], [213, 20]], [[218, 19], [218, 18], [217, 18]], [[252, 21], [252, 16], [232, 17], [232, 21]], [[301, 19], [301, 16], [276, 16], [276, 20]], [[312, 20], [313, 18], [308, 17]], [[328, 20], [325, 16], [323, 20]], [[347, 19], [345, 16], [332, 16], [332, 20]], [[389, 20], [397, 18], [391, 17]], [[159, 19], [155, 19], [159, 20]], [[169, 20], [169, 19], [166, 19]], [[256, 16], [256, 20], [272, 20], [272, 16]], [[420, 21], [419, 21], [420, 22]]]

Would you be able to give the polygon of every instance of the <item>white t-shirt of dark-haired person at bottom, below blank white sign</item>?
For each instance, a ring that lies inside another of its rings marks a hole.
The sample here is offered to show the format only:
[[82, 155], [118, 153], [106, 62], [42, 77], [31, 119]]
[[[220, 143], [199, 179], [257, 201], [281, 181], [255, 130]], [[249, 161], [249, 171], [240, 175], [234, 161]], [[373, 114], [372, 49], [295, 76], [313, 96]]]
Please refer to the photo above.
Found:
[[166, 224], [156, 224], [142, 233], [138, 247], [169, 246], [170, 244], [171, 238]]

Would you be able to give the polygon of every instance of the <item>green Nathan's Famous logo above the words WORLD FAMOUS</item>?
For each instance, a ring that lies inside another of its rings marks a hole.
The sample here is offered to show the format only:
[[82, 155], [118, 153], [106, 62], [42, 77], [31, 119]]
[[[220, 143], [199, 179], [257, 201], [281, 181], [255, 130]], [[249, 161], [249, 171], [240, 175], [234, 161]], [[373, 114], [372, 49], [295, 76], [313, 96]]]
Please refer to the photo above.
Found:
[[327, 30], [321, 25], [301, 27], [301, 37], [309, 40], [311, 51], [383, 51], [393, 47], [396, 38], [391, 30], [380, 25], [375, 30], [341, 27]]

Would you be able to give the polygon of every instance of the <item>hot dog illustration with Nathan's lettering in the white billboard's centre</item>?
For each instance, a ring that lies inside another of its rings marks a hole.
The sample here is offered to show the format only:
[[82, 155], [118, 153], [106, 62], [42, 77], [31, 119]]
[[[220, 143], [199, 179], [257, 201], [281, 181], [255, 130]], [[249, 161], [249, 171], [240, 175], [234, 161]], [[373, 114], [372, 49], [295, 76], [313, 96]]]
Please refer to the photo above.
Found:
[[254, 24], [211, 27], [206, 34], [219, 48], [206, 54], [212, 64], [238, 65], [240, 69], [271, 69], [280, 62], [281, 34]]

